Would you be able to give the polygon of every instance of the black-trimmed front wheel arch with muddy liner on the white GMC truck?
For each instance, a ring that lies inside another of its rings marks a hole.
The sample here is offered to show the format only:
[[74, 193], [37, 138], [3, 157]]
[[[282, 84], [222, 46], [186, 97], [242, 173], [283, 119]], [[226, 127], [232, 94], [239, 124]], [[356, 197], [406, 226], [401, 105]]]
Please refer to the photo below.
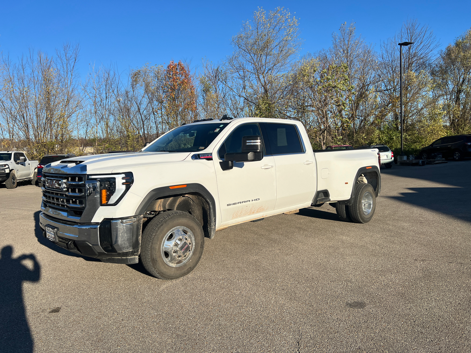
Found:
[[205, 237], [214, 238], [216, 202], [211, 193], [201, 184], [187, 184], [178, 189], [170, 187], [163, 186], [151, 190], [140, 203], [135, 215], [146, 217], [146, 212], [149, 211], [185, 211], [198, 219]]

